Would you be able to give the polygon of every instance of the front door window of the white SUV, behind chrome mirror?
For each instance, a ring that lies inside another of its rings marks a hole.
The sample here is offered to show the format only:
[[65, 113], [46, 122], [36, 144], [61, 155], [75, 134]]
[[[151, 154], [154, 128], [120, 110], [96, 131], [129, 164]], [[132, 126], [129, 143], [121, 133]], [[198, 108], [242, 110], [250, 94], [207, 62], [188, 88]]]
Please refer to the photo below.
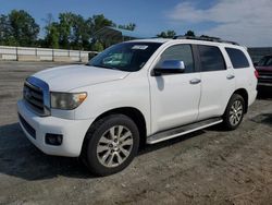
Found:
[[165, 60], [180, 60], [185, 64], [185, 73], [194, 72], [194, 58], [190, 45], [175, 45], [169, 47], [161, 55], [159, 65]]

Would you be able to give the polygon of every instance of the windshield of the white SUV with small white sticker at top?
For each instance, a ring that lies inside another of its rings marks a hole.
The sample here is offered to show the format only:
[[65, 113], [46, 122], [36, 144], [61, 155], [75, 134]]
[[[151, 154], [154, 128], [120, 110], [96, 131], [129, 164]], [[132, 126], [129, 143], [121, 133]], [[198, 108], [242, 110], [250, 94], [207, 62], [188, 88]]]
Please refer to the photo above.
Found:
[[92, 58], [87, 65], [128, 72], [139, 71], [160, 46], [159, 43], [118, 44]]

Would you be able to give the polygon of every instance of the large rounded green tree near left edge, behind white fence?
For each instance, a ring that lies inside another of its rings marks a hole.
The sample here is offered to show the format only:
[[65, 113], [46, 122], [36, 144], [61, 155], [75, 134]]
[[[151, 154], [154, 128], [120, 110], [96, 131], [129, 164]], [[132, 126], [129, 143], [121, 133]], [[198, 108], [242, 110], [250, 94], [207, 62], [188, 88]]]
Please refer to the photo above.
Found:
[[[39, 25], [23, 10], [12, 10], [8, 15], [10, 39], [17, 46], [34, 46], [39, 34]], [[13, 40], [12, 40], [13, 41]]]

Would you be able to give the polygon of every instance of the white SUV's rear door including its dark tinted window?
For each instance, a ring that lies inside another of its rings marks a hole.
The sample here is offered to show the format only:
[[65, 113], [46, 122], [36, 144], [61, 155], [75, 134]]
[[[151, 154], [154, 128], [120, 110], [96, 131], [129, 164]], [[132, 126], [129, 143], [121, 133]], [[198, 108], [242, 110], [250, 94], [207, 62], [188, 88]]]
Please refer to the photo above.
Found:
[[198, 45], [201, 70], [201, 98], [198, 120], [222, 116], [235, 88], [226, 52], [217, 46]]

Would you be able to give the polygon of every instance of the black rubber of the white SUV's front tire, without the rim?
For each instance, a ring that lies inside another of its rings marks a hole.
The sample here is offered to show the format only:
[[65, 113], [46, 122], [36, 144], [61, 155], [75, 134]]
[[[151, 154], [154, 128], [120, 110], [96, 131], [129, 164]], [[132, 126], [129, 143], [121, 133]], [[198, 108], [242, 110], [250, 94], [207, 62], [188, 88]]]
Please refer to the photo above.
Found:
[[[133, 148], [132, 148], [129, 156], [126, 158], [126, 160], [123, 164], [121, 164], [118, 167], [108, 168], [101, 165], [99, 159], [97, 158], [97, 145], [102, 134], [114, 125], [124, 125], [132, 132]], [[134, 157], [136, 156], [138, 152], [139, 132], [138, 132], [137, 125], [134, 123], [134, 121], [131, 118], [124, 114], [112, 114], [112, 116], [106, 117], [97, 124], [95, 123], [91, 130], [92, 130], [91, 136], [89, 137], [88, 145], [86, 147], [87, 148], [86, 159], [87, 159], [89, 169], [95, 174], [109, 176], [109, 174], [123, 170], [132, 162], [132, 160], [134, 159]]]

